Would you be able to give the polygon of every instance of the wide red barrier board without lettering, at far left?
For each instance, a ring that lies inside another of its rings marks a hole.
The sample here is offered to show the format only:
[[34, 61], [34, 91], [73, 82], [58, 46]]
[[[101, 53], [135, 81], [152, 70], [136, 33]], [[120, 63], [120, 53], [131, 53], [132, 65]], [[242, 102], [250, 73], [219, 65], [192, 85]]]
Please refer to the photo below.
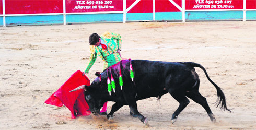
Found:
[[[2, 1], [2, 0], [0, 0]], [[62, 0], [5, 0], [5, 14], [63, 13]]]

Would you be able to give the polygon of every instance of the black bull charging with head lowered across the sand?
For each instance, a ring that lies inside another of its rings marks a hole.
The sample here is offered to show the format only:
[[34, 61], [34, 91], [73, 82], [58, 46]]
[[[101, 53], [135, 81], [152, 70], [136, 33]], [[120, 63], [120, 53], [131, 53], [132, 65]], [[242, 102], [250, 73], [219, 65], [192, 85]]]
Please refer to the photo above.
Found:
[[[113, 101], [112, 109], [107, 115], [107, 118], [113, 117], [113, 113], [119, 110], [123, 105], [129, 105], [130, 114], [138, 117], [145, 125], [147, 118], [137, 110], [137, 100], [146, 99], [149, 97], [161, 98], [162, 95], [170, 93], [171, 96], [179, 102], [178, 109], [172, 114], [171, 122], [174, 123], [180, 112], [189, 104], [189, 99], [202, 105], [206, 110], [212, 122], [216, 119], [208, 106], [206, 98], [199, 93], [200, 79], [195, 72], [194, 67], [203, 69], [207, 79], [214, 85], [217, 90], [218, 99], [217, 107], [228, 110], [226, 99], [223, 91], [208, 77], [208, 74], [203, 66], [193, 62], [161, 62], [147, 60], [132, 60], [134, 72], [134, 81], [130, 77], [130, 61], [121, 61], [121, 72], [123, 77], [123, 89], [119, 86], [119, 70], [120, 63], [111, 66], [109, 69], [112, 72], [115, 81], [115, 93], [112, 91], [111, 96], [108, 92], [107, 73], [110, 78], [108, 69], [101, 73], [101, 78], [97, 77], [90, 86], [81, 86], [85, 89], [85, 100], [89, 105], [89, 110], [93, 114], [99, 114], [100, 108], [106, 101]], [[188, 97], [188, 98], [187, 98]]]

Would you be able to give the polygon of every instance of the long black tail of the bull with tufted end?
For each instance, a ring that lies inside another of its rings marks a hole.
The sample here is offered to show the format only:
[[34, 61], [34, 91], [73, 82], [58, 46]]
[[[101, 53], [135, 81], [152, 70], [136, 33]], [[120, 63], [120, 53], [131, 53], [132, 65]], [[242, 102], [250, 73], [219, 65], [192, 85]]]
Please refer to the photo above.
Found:
[[[214, 87], [216, 88], [216, 90], [217, 90], [217, 96], [218, 96], [218, 99], [217, 99], [217, 101], [216, 101], [217, 107], [219, 106], [219, 108], [220, 108], [220, 109], [223, 109], [224, 111], [226, 111], [226, 110], [227, 110], [227, 111], [230, 111], [230, 109], [227, 109], [226, 98], [225, 98], [225, 95], [224, 95], [222, 89], [221, 89], [220, 87], [218, 87], [218, 86], [210, 79], [210, 77], [208, 76], [208, 74], [207, 74], [205, 68], [204, 68], [202, 65], [197, 64], [197, 63], [193, 63], [193, 62], [190, 62], [190, 65], [191, 65], [192, 67], [199, 67], [199, 68], [201, 68], [201, 69], [204, 71], [204, 73], [205, 73], [207, 79], [208, 79], [208, 80], [214, 85]], [[231, 112], [231, 111], [230, 111], [230, 112]]]

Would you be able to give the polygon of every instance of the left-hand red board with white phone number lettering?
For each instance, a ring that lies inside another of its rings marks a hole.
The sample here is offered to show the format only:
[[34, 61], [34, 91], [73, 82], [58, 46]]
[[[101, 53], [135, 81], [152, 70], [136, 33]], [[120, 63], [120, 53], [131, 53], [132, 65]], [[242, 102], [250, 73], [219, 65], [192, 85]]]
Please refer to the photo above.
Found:
[[66, 0], [66, 13], [123, 11], [123, 0]]

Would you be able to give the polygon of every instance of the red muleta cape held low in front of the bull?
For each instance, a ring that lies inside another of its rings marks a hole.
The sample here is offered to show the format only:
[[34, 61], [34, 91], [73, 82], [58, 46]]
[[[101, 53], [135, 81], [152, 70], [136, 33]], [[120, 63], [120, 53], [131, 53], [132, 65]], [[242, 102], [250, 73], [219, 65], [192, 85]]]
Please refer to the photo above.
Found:
[[63, 104], [71, 111], [72, 119], [81, 115], [90, 115], [85, 101], [84, 89], [69, 92], [81, 85], [90, 85], [90, 80], [77, 70], [45, 103], [61, 107]]

